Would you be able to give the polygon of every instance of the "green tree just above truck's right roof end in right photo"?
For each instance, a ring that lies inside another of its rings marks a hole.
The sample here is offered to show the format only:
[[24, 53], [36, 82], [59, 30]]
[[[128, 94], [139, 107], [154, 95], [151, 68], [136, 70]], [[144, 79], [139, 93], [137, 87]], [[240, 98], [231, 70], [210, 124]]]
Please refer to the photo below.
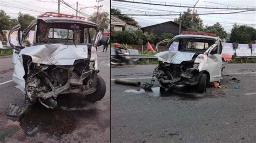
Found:
[[224, 31], [224, 27], [220, 23], [215, 23], [212, 26], [205, 26], [204, 31], [207, 33], [214, 33], [220, 37], [220, 39], [225, 39], [227, 37], [227, 32]]

